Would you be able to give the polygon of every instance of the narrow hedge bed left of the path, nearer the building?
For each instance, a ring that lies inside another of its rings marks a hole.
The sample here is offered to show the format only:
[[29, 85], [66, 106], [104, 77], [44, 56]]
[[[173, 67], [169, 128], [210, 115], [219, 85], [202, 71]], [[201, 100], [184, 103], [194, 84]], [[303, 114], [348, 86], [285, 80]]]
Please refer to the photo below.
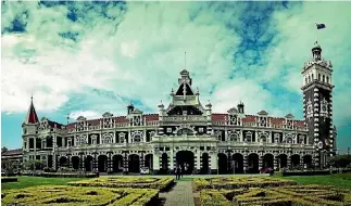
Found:
[[68, 182], [74, 186], [138, 188], [165, 190], [173, 184], [173, 178], [95, 178]]

